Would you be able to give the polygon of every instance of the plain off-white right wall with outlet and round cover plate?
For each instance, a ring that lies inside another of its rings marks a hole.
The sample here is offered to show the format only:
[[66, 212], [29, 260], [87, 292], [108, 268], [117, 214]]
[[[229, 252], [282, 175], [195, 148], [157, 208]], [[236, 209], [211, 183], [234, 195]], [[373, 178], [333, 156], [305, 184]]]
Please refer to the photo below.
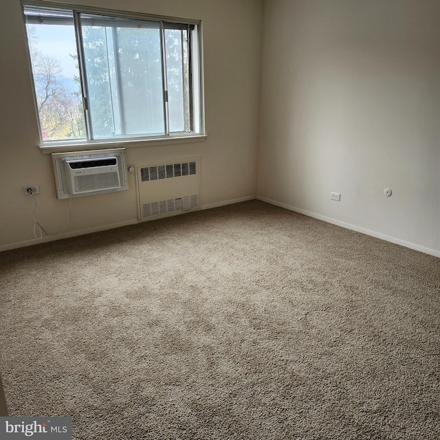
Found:
[[440, 1], [269, 0], [263, 28], [259, 198], [440, 256]]

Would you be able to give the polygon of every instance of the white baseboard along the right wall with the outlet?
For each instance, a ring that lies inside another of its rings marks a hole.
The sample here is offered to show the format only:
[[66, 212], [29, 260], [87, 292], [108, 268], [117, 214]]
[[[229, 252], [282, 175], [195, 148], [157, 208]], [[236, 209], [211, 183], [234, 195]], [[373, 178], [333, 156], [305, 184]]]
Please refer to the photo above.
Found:
[[389, 241], [390, 243], [394, 243], [396, 245], [404, 246], [405, 248], [410, 248], [412, 250], [417, 250], [419, 252], [423, 252], [424, 254], [429, 254], [432, 256], [440, 257], [440, 251], [425, 248], [424, 246], [417, 245], [415, 243], [410, 243], [410, 241], [404, 241], [401, 239], [396, 239], [393, 236], [389, 236], [386, 234], [381, 234], [380, 232], [375, 232], [366, 228], [360, 228], [360, 226], [352, 225], [351, 223], [345, 223], [344, 221], [332, 219], [331, 217], [326, 217], [325, 215], [316, 214], [315, 212], [306, 211], [300, 208], [296, 208], [296, 206], [287, 205], [286, 203], [281, 203], [280, 201], [267, 199], [266, 197], [261, 197], [259, 195], [256, 196], [256, 199], [265, 201], [266, 203], [270, 203], [271, 205], [280, 206], [280, 208], [285, 208], [290, 211], [298, 212], [298, 214], [307, 215], [307, 217], [313, 217], [314, 219], [326, 221], [327, 223], [331, 223], [333, 225], [341, 226], [342, 228], [350, 229], [355, 232], [360, 232], [361, 234], [366, 234], [370, 236], [374, 236], [376, 239], [381, 239], [384, 241]]

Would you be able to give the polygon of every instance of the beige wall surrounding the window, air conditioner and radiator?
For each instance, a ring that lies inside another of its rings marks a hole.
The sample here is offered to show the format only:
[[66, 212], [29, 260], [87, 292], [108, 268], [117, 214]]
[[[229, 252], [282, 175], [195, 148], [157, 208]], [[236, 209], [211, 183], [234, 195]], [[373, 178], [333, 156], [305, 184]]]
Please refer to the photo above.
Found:
[[[255, 0], [70, 0], [93, 5], [201, 19], [203, 23], [208, 140], [129, 148], [127, 163], [201, 157], [201, 203], [213, 206], [255, 197], [263, 1]], [[61, 230], [69, 202], [57, 200], [50, 155], [38, 148], [19, 0], [2, 2], [0, 14], [0, 250], [36, 243], [33, 200], [23, 186], [38, 184], [38, 218]], [[66, 235], [137, 221], [135, 177], [130, 189], [72, 200]]]

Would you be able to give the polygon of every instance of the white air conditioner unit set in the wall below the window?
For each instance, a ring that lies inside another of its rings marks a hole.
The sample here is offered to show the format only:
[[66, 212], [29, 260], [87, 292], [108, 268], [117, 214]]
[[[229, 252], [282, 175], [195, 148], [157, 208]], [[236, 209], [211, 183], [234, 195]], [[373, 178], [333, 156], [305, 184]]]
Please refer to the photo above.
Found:
[[125, 148], [53, 153], [52, 161], [58, 199], [128, 189]]

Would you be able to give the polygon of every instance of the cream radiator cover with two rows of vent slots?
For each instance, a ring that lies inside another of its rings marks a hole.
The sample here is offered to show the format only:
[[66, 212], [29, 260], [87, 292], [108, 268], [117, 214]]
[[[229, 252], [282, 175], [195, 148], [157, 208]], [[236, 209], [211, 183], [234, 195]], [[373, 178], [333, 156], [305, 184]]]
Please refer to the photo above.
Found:
[[199, 210], [199, 164], [199, 158], [191, 158], [138, 167], [140, 221]]

